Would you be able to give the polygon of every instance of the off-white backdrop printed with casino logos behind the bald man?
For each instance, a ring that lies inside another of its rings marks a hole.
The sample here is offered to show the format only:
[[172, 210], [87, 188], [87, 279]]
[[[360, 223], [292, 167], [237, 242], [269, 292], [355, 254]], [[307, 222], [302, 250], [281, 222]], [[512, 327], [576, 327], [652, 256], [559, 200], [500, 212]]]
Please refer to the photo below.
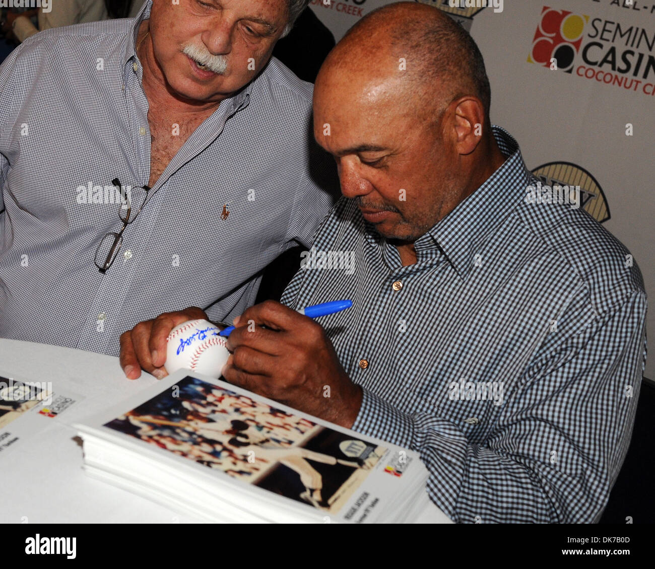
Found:
[[[337, 41], [391, 3], [326, 1], [310, 6]], [[544, 183], [581, 186], [584, 208], [630, 249], [655, 299], [655, 3], [505, 0], [502, 12], [422, 3], [454, 14], [470, 31], [491, 81], [491, 121], [514, 135]], [[648, 336], [655, 337], [653, 306]], [[654, 357], [645, 376], [655, 378]]]

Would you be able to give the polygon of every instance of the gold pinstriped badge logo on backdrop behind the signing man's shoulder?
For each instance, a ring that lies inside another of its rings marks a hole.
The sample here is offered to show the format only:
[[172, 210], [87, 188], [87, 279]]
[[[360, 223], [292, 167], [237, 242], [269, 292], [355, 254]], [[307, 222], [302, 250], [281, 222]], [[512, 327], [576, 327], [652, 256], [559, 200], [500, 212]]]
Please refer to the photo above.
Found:
[[580, 186], [580, 206], [596, 221], [610, 219], [610, 208], [598, 181], [584, 168], [571, 162], [548, 162], [532, 173], [544, 185]]

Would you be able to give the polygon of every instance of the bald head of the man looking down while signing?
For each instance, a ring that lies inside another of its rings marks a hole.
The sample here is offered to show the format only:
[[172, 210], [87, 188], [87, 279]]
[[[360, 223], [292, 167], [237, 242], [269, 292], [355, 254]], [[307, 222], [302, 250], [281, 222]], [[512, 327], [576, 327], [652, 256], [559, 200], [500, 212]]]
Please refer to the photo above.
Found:
[[337, 161], [341, 193], [404, 248], [504, 161], [489, 98], [464, 29], [436, 8], [391, 4], [327, 56], [314, 88], [314, 138]]

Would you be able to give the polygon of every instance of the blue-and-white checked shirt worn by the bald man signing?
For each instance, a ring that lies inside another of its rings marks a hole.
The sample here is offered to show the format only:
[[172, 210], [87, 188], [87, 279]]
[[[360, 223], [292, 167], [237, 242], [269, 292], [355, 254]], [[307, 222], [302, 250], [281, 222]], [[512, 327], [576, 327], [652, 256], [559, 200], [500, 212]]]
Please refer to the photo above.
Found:
[[354, 265], [308, 263], [282, 301], [352, 299], [321, 323], [364, 390], [353, 429], [418, 450], [451, 519], [597, 521], [645, 365], [641, 273], [586, 212], [526, 203], [537, 180], [493, 130], [506, 162], [417, 240], [415, 265], [342, 198], [314, 258]]

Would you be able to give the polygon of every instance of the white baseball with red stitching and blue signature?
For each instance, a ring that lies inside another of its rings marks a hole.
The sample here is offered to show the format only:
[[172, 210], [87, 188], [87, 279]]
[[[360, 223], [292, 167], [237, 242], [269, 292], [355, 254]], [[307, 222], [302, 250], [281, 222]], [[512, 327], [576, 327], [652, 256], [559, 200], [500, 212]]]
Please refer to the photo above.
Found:
[[174, 373], [185, 368], [219, 378], [230, 355], [219, 331], [207, 320], [189, 320], [172, 329], [166, 339], [166, 371]]

